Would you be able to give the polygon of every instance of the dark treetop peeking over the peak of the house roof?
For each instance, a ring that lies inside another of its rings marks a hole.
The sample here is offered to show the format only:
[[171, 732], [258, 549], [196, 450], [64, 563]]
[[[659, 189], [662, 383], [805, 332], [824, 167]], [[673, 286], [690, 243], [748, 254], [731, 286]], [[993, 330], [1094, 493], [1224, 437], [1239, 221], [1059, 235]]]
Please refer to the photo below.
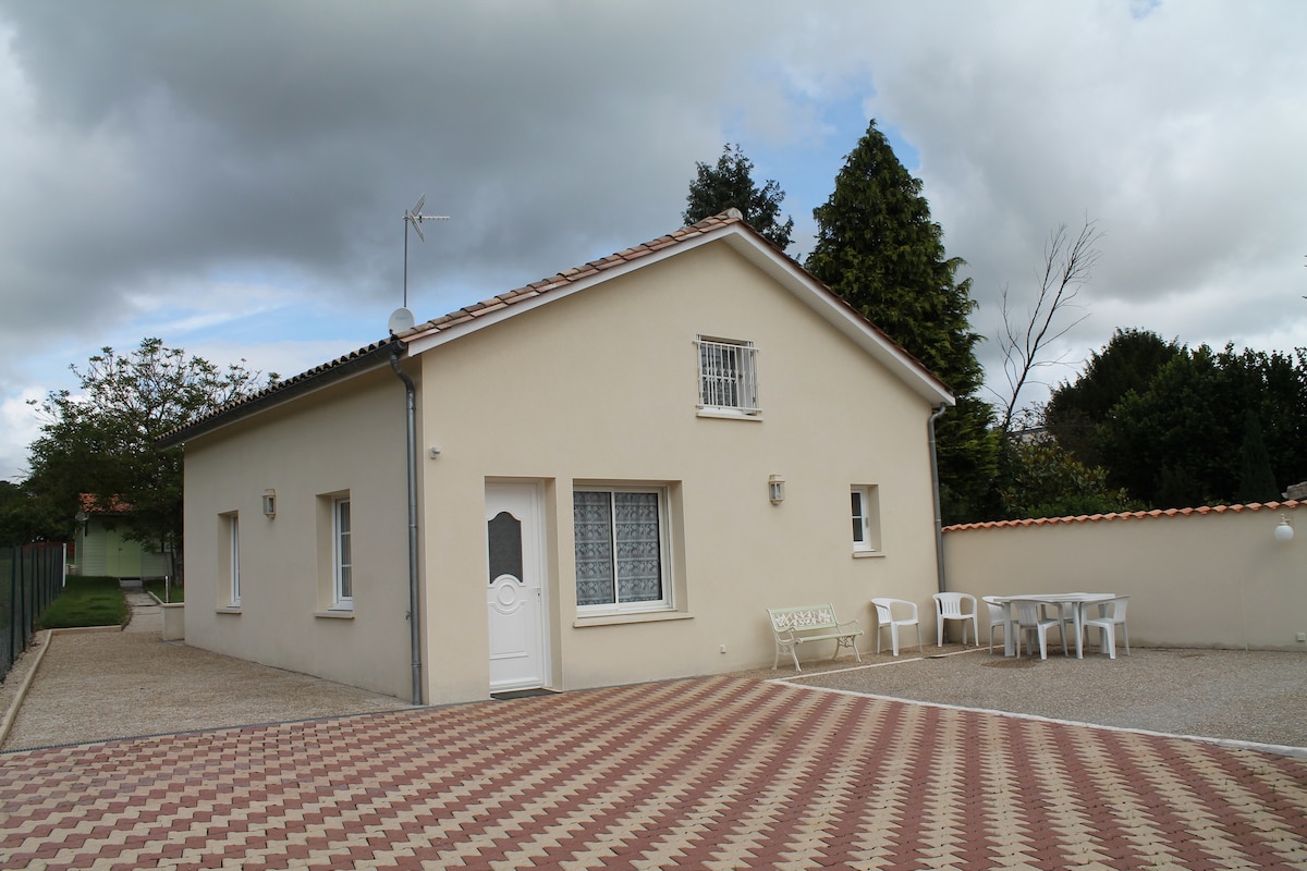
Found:
[[681, 215], [686, 225], [697, 223], [704, 218], [711, 218], [735, 206], [749, 223], [771, 242], [784, 251], [789, 247], [791, 232], [795, 229], [793, 218], [787, 218], [780, 223], [780, 201], [786, 198], [786, 192], [774, 180], [761, 188], [753, 183], [753, 162], [744, 155], [740, 146], [731, 145], [721, 148], [721, 157], [716, 166], [695, 163], [697, 175], [690, 182], [690, 193], [685, 197], [685, 213]]

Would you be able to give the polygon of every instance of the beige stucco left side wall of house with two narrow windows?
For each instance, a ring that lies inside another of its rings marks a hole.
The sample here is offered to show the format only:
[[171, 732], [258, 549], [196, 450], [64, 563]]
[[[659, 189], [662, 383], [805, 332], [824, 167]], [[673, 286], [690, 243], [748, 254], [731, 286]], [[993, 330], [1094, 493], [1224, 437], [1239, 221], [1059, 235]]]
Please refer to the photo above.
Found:
[[[272, 520], [267, 488], [277, 492]], [[319, 616], [331, 605], [319, 496], [342, 491], [354, 525], [352, 619]], [[388, 366], [187, 443], [187, 644], [408, 697], [405, 494], [404, 385]], [[231, 512], [239, 610], [226, 607]]]

